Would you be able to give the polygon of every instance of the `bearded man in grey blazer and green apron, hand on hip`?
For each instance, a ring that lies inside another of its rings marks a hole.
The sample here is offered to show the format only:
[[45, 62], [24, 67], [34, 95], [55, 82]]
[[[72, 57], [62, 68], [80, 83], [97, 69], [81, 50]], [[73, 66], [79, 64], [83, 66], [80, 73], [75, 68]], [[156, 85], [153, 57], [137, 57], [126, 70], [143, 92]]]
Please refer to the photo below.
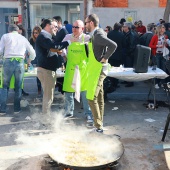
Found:
[[106, 32], [99, 28], [99, 18], [96, 14], [90, 14], [85, 19], [85, 27], [90, 32], [88, 61], [88, 85], [87, 99], [91, 108], [96, 132], [103, 132], [104, 95], [103, 80], [105, 79], [105, 67], [108, 58], [117, 48], [117, 44], [107, 38]]

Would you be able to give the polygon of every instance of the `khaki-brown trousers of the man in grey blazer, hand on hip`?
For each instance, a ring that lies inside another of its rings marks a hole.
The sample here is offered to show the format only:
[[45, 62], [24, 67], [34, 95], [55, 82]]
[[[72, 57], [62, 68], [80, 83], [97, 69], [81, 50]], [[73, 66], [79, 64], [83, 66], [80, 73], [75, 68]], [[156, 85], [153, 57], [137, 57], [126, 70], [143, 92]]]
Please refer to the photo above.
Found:
[[103, 81], [106, 78], [104, 74], [101, 73], [99, 81], [96, 87], [96, 92], [93, 100], [88, 100], [91, 112], [94, 118], [94, 126], [98, 129], [103, 128], [103, 115], [104, 115], [104, 91], [103, 91]]

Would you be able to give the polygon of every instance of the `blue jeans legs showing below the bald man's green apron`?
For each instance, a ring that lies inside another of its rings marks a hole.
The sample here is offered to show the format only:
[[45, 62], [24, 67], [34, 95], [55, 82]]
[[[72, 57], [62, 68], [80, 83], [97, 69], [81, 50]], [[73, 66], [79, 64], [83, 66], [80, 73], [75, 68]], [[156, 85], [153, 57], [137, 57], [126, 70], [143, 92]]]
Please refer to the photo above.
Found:
[[[83, 112], [86, 116], [92, 116], [90, 107], [88, 105], [88, 101], [86, 99], [86, 91], [82, 91], [80, 93], [81, 101], [83, 104]], [[74, 93], [71, 92], [65, 92], [65, 114], [71, 114], [74, 113]]]

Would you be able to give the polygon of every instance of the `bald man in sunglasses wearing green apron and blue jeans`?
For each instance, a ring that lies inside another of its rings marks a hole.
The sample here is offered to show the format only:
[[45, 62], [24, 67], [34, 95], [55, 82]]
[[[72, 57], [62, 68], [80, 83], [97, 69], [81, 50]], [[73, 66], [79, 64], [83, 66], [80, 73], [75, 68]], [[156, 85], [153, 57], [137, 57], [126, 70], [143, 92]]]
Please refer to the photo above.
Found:
[[67, 56], [66, 72], [64, 76], [63, 91], [65, 92], [65, 117], [72, 117], [74, 112], [74, 92], [72, 87], [73, 78], [76, 74], [76, 67], [79, 67], [80, 81], [75, 82], [76, 86], [80, 86], [79, 93], [83, 104], [84, 114], [87, 118], [87, 123], [92, 123], [92, 114], [90, 107], [86, 99], [87, 89], [87, 46], [86, 42], [89, 41], [90, 36], [83, 33], [84, 23], [81, 20], [76, 20], [73, 23], [72, 34], [67, 34], [63, 41], [71, 40], [71, 45], [68, 46], [67, 53], [63, 52], [63, 55]]

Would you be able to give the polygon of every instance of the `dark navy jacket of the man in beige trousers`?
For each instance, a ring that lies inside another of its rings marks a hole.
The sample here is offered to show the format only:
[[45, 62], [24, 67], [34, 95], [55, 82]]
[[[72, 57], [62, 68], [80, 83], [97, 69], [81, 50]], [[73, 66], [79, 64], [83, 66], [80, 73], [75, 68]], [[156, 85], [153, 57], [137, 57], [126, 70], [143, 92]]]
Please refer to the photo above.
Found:
[[69, 43], [67, 41], [61, 43], [53, 41], [47, 34], [41, 32], [35, 43], [37, 66], [47, 70], [56, 71], [58, 66], [57, 55], [49, 57], [49, 51], [51, 48], [61, 50], [66, 48], [68, 45]]

